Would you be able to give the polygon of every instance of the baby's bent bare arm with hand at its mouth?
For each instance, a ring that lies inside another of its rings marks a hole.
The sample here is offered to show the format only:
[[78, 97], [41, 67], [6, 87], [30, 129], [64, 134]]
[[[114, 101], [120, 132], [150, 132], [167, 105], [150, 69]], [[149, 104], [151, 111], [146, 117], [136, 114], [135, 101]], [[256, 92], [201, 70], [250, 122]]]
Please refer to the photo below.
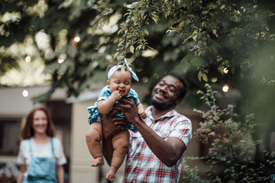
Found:
[[122, 95], [120, 94], [120, 91], [115, 90], [106, 100], [98, 101], [98, 111], [100, 114], [104, 115], [110, 112], [111, 108], [113, 108], [113, 104], [115, 104], [115, 101], [121, 99], [121, 97]]

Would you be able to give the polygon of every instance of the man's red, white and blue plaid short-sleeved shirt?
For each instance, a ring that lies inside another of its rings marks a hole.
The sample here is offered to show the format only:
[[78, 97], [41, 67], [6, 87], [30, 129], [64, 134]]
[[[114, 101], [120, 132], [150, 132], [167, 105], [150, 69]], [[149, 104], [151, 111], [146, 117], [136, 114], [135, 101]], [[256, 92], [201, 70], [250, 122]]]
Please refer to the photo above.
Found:
[[[191, 121], [175, 110], [170, 110], [162, 117], [153, 119], [151, 108], [146, 109], [144, 122], [159, 136], [167, 141], [176, 137], [187, 146], [192, 138]], [[181, 159], [173, 167], [167, 167], [148, 147], [140, 132], [130, 132], [131, 140], [126, 158], [123, 182], [178, 182], [181, 172]]]

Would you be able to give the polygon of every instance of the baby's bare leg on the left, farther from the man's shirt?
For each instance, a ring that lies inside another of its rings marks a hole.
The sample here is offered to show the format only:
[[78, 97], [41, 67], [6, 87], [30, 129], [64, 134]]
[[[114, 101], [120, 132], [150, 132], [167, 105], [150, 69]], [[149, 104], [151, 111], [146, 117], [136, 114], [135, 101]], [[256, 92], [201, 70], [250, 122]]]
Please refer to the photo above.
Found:
[[86, 143], [91, 156], [94, 157], [94, 162], [91, 167], [99, 167], [104, 164], [101, 151], [100, 141], [102, 140], [102, 127], [99, 122], [91, 123], [89, 130], [86, 132]]

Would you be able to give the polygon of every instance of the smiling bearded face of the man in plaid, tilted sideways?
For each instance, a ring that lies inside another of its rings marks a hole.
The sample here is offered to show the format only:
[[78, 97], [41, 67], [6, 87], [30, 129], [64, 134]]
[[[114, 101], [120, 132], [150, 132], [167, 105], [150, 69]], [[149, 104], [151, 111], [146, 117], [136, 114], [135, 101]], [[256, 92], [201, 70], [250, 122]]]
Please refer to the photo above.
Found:
[[151, 103], [158, 110], [172, 109], [181, 102], [178, 99], [184, 85], [172, 75], [167, 75], [153, 88]]

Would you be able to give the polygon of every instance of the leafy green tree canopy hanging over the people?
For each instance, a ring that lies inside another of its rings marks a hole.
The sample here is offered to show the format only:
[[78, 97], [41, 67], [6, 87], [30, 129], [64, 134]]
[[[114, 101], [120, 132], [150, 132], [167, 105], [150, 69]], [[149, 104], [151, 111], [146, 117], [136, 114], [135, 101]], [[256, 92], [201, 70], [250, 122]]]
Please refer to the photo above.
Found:
[[[174, 71], [190, 89], [205, 82], [238, 89], [238, 109], [247, 114], [274, 104], [274, 1], [3, 0], [0, 6], [0, 76], [26, 56], [42, 60], [52, 88], [36, 101], [59, 87], [78, 96], [104, 82], [110, 62], [126, 57], [142, 82]], [[271, 112], [265, 121], [273, 118]]]

